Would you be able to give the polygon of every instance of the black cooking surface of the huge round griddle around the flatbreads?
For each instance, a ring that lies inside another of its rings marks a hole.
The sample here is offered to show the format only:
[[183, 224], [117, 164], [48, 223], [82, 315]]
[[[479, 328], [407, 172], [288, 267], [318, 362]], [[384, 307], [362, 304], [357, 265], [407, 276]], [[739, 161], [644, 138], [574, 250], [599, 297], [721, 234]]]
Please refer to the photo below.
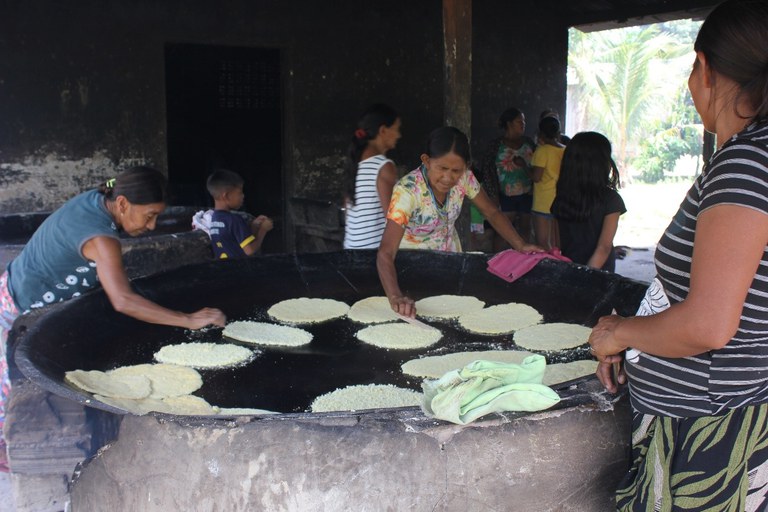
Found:
[[[400, 251], [401, 288], [414, 299], [431, 295], [472, 295], [487, 305], [523, 302], [545, 322], [594, 325], [616, 309], [636, 310], [646, 285], [615, 274], [555, 260], [543, 260], [514, 283], [486, 270], [488, 255]], [[145, 297], [169, 308], [193, 311], [221, 308], [229, 321], [269, 321], [266, 310], [296, 297], [332, 298], [347, 304], [383, 291], [375, 251], [281, 254], [246, 260], [215, 261], [178, 268], [133, 282]], [[103, 291], [51, 308], [28, 322], [15, 347], [15, 362], [26, 377], [58, 395], [111, 412], [124, 412], [94, 400], [64, 382], [69, 370], [109, 370], [152, 362], [173, 343], [229, 341], [221, 329], [185, 331], [139, 322], [115, 312]], [[464, 350], [514, 349], [512, 336], [468, 333], [453, 322], [430, 322], [443, 331], [439, 344], [422, 350], [384, 350], [358, 341], [365, 327], [346, 318], [300, 326], [314, 335], [301, 348], [258, 348], [249, 364], [202, 370], [204, 385], [195, 394], [220, 407], [254, 407], [280, 412], [307, 411], [323, 393], [351, 384], [394, 384], [420, 389], [400, 365], [420, 355]], [[545, 354], [549, 362], [588, 358], [586, 348]]]

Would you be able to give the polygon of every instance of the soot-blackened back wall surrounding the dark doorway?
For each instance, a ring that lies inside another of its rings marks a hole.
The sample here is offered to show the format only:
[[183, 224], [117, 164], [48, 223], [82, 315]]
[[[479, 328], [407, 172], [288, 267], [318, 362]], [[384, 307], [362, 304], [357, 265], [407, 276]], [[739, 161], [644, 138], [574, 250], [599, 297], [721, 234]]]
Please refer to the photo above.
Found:
[[[521, 19], [518, 4], [473, 5], [478, 141], [510, 103], [529, 117], [564, 105], [566, 35], [540, 13]], [[55, 209], [130, 165], [167, 169], [169, 43], [280, 51], [283, 190], [275, 193], [289, 250], [290, 198], [338, 201], [365, 106], [385, 101], [401, 113], [391, 156], [402, 172], [444, 119], [441, 0], [29, 0], [0, 5], [0, 34], [0, 214]]]

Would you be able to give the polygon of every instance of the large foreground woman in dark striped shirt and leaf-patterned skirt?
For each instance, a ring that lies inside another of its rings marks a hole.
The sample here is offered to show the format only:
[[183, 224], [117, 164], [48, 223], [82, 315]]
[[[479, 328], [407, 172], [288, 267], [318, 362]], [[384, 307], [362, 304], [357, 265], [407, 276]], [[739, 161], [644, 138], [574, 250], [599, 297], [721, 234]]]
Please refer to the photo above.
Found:
[[637, 316], [603, 317], [589, 340], [606, 388], [629, 382], [621, 511], [768, 509], [768, 2], [723, 2], [694, 50], [688, 87], [718, 150]]

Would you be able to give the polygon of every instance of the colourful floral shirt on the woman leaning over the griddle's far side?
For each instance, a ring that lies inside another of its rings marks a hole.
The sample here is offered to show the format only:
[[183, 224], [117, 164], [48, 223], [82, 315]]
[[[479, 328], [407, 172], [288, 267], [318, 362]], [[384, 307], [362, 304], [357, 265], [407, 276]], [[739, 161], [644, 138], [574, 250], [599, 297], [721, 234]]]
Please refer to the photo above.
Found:
[[448, 193], [445, 205], [437, 206], [422, 167], [411, 171], [392, 190], [387, 219], [405, 229], [401, 249], [427, 249], [461, 252], [461, 243], [454, 224], [461, 213], [464, 196], [473, 199], [480, 184], [467, 170]]

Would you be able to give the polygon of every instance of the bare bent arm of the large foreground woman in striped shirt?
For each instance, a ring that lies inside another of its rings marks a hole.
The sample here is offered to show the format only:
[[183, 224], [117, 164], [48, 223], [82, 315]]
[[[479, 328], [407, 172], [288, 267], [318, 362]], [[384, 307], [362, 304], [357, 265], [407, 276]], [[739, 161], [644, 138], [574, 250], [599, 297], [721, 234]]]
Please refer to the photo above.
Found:
[[[749, 229], [739, 229], [744, 226]], [[662, 357], [687, 357], [724, 347], [738, 329], [766, 241], [768, 215], [735, 205], [703, 212], [688, 297], [652, 316], [601, 318], [589, 339], [596, 355], [633, 347]]]

